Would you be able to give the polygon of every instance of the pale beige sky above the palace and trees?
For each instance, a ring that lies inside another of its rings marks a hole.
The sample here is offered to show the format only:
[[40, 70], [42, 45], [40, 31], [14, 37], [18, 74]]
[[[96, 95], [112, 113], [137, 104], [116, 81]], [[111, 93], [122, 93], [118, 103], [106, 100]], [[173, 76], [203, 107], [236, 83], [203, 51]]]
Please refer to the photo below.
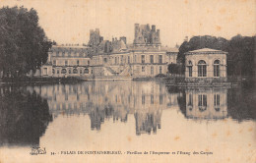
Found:
[[186, 36], [230, 39], [256, 33], [256, 0], [0, 0], [0, 6], [35, 9], [47, 37], [62, 43], [88, 43], [90, 29], [104, 39], [134, 39], [134, 24], [160, 28], [162, 45], [181, 44]]

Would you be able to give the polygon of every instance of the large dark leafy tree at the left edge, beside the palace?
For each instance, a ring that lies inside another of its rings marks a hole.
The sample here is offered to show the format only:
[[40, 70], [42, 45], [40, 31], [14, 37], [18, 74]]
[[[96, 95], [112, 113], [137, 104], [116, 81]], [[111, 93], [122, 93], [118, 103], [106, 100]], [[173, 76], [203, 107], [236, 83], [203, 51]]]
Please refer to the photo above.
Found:
[[0, 9], [0, 71], [4, 77], [35, 72], [47, 61], [51, 42], [38, 26], [34, 9], [3, 7]]

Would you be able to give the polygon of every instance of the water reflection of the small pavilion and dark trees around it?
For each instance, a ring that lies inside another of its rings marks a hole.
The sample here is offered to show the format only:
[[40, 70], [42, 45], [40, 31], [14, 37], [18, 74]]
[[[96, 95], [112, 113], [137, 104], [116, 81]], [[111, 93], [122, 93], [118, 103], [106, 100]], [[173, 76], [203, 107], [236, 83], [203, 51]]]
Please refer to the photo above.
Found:
[[178, 105], [188, 119], [218, 120], [230, 117], [238, 122], [256, 119], [255, 87], [200, 87], [176, 91], [182, 94], [177, 97]]

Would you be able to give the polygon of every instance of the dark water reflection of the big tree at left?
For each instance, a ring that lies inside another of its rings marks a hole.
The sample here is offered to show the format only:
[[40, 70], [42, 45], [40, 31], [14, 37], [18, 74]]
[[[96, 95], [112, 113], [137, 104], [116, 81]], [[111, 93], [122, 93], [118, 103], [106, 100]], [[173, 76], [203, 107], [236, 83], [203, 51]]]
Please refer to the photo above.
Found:
[[0, 146], [37, 146], [52, 117], [47, 101], [34, 91], [0, 87]]

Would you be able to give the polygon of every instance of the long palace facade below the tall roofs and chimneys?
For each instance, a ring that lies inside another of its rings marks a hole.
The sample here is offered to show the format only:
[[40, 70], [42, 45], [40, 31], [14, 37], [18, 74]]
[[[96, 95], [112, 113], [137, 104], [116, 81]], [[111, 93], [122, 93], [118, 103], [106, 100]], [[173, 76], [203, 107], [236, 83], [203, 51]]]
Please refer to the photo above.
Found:
[[[170, 57], [171, 56], [171, 57]], [[155, 77], [167, 73], [175, 56], [165, 51], [126, 50], [91, 55], [88, 47], [53, 46], [48, 62], [41, 67], [43, 77]]]

